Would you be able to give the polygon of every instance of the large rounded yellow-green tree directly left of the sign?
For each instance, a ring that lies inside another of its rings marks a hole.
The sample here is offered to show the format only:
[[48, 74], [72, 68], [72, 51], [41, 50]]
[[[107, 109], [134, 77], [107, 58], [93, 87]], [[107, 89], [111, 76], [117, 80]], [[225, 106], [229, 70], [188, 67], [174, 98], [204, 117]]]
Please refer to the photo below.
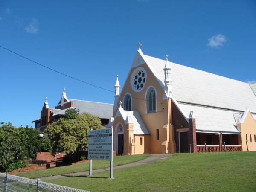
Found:
[[52, 122], [46, 128], [52, 149], [65, 154], [71, 154], [88, 147], [88, 132], [90, 129], [102, 129], [99, 117], [90, 113], [82, 113], [74, 119], [62, 118]]

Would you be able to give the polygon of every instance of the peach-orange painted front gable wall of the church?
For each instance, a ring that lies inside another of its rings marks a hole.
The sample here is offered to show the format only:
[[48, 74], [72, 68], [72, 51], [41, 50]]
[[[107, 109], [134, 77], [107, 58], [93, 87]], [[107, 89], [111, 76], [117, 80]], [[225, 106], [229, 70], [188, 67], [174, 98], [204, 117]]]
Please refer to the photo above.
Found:
[[[143, 67], [147, 73], [147, 80], [145, 83], [145, 86], [143, 90], [140, 92], [135, 92], [131, 87], [131, 75], [134, 72], [134, 70], [137, 69], [137, 67]], [[126, 93], [130, 93], [132, 96], [132, 111], [138, 111], [140, 113], [140, 116], [143, 119], [143, 122], [145, 123], [146, 127], [148, 128], [148, 131], [150, 132], [150, 142], [148, 142], [148, 145], [150, 145], [150, 153], [151, 154], [161, 154], [161, 153], [167, 153], [168, 149], [164, 149], [161, 147], [162, 143], [169, 139], [169, 126], [167, 128], [163, 128], [164, 125], [168, 124], [168, 103], [167, 99], [163, 100], [164, 91], [151, 70], [148, 68], [147, 64], [142, 64], [140, 66], [137, 66], [131, 69], [130, 73], [128, 74], [128, 78], [125, 82], [124, 87], [121, 87], [122, 92], [120, 101], [123, 102], [123, 98]], [[164, 73], [164, 71], [163, 71]], [[157, 91], [157, 102], [156, 102], [156, 109], [157, 112], [155, 113], [146, 113], [146, 92], [148, 90], [148, 87], [153, 86]], [[139, 99], [137, 99], [139, 98]], [[123, 107], [123, 104], [122, 104]], [[159, 129], [159, 140], [156, 138], [156, 130]], [[167, 145], [169, 145], [167, 141]], [[136, 145], [137, 147], [137, 145]]]

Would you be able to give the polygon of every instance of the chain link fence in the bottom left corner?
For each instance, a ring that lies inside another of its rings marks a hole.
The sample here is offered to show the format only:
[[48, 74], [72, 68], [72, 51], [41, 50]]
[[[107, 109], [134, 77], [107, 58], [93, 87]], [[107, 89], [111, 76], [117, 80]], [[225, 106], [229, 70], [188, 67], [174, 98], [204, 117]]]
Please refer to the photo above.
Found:
[[0, 173], [0, 192], [87, 192], [80, 189]]

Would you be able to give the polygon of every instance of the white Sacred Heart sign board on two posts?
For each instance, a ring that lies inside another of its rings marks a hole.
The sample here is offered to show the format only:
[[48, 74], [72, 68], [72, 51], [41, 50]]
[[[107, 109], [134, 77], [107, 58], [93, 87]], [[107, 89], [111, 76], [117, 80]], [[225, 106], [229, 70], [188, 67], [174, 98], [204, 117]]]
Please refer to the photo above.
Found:
[[89, 131], [88, 159], [113, 160], [113, 132], [110, 129]]

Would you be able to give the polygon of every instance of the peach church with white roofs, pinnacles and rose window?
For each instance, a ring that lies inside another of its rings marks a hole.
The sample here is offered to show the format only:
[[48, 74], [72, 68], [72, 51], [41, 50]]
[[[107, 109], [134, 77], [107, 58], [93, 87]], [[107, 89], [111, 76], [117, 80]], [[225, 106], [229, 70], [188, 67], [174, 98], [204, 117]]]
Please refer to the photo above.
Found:
[[135, 55], [120, 91], [113, 150], [119, 155], [256, 151], [256, 83]]

